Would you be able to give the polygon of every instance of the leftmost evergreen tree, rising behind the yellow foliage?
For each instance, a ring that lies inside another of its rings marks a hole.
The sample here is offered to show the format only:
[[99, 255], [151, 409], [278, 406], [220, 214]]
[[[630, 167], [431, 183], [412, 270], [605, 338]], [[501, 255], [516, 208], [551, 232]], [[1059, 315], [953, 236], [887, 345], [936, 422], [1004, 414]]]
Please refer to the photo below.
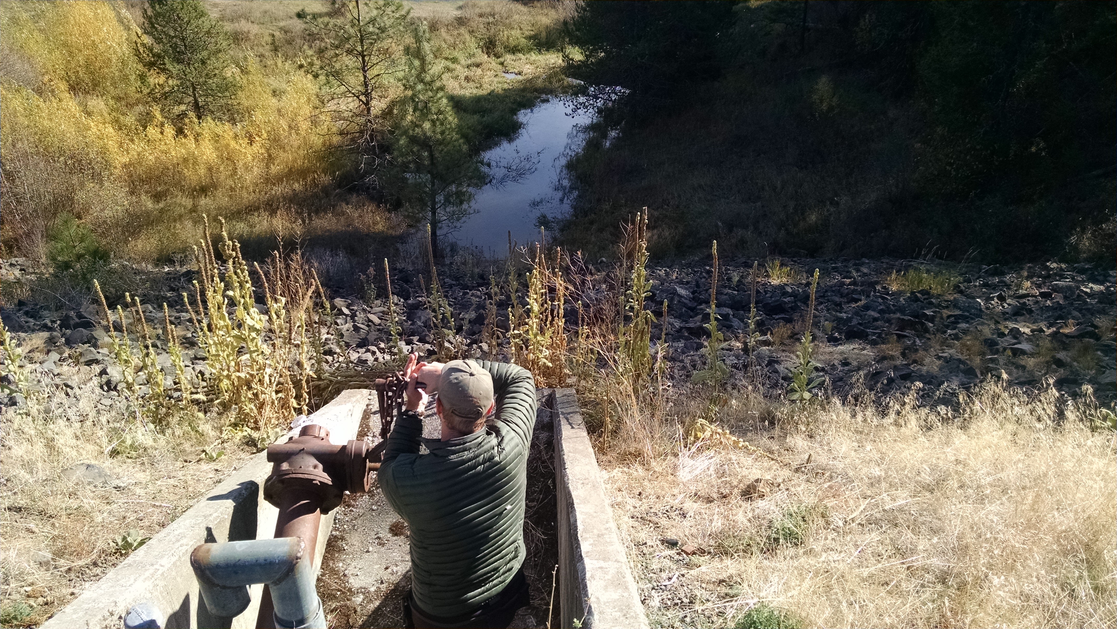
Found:
[[218, 116], [237, 93], [229, 72], [231, 40], [200, 0], [150, 0], [143, 10], [140, 61], [153, 96], [172, 115]]

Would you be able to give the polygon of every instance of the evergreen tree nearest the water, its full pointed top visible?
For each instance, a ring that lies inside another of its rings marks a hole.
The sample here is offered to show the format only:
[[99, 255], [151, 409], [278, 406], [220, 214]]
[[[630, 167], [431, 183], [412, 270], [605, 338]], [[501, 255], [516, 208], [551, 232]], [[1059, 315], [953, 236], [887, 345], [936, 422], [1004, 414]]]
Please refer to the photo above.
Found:
[[440, 259], [439, 228], [468, 216], [474, 189], [490, 178], [461, 137], [423, 25], [414, 28], [408, 47], [404, 87], [395, 105], [393, 180], [405, 207], [430, 223], [431, 247]]

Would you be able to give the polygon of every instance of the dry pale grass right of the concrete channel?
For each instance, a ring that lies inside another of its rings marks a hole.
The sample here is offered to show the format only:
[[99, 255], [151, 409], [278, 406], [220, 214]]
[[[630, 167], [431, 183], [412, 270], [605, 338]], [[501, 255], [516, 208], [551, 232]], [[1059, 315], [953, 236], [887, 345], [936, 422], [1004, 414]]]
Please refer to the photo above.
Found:
[[738, 433], [784, 463], [701, 445], [603, 457], [652, 626], [725, 627], [758, 604], [825, 627], [1117, 622], [1117, 442], [1053, 391], [989, 383], [953, 413], [744, 395], [724, 416], [743, 431], [762, 411], [781, 428]]

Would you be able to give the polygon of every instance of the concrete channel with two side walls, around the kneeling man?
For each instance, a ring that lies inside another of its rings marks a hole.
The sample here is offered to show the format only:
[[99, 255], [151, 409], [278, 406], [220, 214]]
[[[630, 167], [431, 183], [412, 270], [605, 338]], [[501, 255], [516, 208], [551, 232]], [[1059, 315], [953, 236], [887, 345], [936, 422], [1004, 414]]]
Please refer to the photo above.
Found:
[[[380, 417], [376, 397], [370, 393], [345, 391], [311, 422], [326, 426], [334, 444], [372, 438], [380, 432]], [[550, 627], [647, 627], [574, 392], [541, 389], [538, 398], [525, 522], [532, 607], [521, 611], [513, 627], [547, 627], [548, 614]], [[437, 438], [438, 418], [431, 409], [423, 436]], [[189, 557], [206, 542], [273, 536], [278, 512], [262, 499], [264, 480], [271, 471], [264, 456], [249, 459], [42, 629], [117, 629], [125, 626], [130, 610], [130, 626], [150, 617], [139, 626], [254, 627], [262, 587], [250, 588], [252, 602], [240, 616], [212, 617], [200, 603]], [[346, 495], [322, 518], [314, 556], [331, 627], [402, 626], [400, 601], [410, 584], [408, 531], [379, 488]]]

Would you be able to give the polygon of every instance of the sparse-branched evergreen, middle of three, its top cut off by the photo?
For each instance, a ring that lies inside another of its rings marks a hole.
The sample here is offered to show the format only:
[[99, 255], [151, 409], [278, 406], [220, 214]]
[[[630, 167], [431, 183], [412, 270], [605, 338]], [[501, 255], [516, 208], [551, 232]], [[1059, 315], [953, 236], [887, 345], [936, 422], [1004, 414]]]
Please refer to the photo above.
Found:
[[395, 0], [334, 0], [323, 13], [296, 13], [314, 45], [303, 66], [322, 82], [340, 147], [352, 154], [364, 178], [375, 177], [385, 158], [384, 111], [389, 86], [404, 69], [401, 41], [408, 13]]

